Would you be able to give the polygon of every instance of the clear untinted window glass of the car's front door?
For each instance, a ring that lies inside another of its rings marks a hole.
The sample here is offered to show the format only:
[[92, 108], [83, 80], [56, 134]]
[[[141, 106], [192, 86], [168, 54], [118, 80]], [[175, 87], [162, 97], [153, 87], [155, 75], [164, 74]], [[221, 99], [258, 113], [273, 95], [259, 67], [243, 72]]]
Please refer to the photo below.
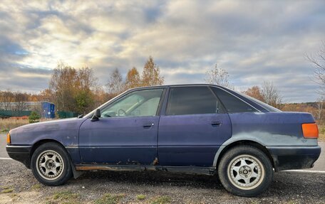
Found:
[[139, 90], [104, 107], [101, 117], [140, 117], [155, 116], [160, 104], [163, 89]]

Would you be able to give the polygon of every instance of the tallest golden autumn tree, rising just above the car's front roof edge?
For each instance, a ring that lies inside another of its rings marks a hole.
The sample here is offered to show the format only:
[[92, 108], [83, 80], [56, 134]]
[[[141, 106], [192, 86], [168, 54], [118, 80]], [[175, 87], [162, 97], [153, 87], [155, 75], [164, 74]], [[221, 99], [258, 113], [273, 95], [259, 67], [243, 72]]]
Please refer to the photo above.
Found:
[[153, 57], [149, 57], [143, 68], [141, 85], [144, 87], [162, 85], [164, 77], [160, 76], [160, 69], [155, 64]]

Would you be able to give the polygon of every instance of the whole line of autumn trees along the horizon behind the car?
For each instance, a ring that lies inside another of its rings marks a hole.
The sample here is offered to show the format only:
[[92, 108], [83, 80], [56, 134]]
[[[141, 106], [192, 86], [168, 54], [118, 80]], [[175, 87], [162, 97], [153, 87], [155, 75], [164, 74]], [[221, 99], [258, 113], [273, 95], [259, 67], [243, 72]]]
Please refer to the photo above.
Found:
[[[323, 116], [325, 44], [316, 57], [307, 56], [306, 58], [314, 66], [314, 78], [320, 85], [319, 94], [321, 97], [317, 102], [284, 104], [279, 88], [274, 86], [273, 82], [268, 81], [264, 81], [262, 85], [249, 87], [242, 92], [284, 111], [311, 112], [316, 119], [325, 118], [325, 115]], [[205, 82], [234, 89], [234, 86], [229, 82], [227, 71], [219, 68], [217, 64], [207, 71]], [[26, 101], [48, 101], [56, 104], [57, 111], [83, 114], [90, 112], [125, 90], [133, 87], [163, 84], [164, 77], [160, 75], [160, 68], [151, 56], [145, 62], [141, 74], [137, 68], [133, 67], [123, 77], [120, 70], [115, 68], [108, 75], [108, 81], [105, 85], [98, 84], [98, 79], [91, 68], [76, 69], [64, 63], [58, 63], [53, 70], [48, 88], [39, 94], [11, 92], [11, 90], [0, 91], [1, 109], [19, 111], [24, 109], [24, 102]]]

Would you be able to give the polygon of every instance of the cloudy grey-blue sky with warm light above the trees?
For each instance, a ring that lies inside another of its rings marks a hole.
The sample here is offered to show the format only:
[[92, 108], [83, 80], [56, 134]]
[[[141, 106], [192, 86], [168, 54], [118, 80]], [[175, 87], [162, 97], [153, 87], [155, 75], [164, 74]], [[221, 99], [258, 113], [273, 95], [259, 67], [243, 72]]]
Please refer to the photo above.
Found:
[[39, 92], [58, 62], [105, 85], [153, 56], [165, 84], [205, 82], [216, 63], [236, 90], [273, 82], [284, 102], [318, 97], [314, 55], [325, 1], [0, 1], [0, 90]]

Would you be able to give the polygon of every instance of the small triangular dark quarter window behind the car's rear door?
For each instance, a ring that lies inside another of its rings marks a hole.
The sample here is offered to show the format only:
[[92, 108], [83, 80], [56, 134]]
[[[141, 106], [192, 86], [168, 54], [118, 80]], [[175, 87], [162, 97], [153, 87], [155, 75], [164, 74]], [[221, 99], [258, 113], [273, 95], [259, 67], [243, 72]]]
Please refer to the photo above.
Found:
[[234, 95], [225, 92], [217, 87], [212, 87], [212, 90], [215, 92], [215, 95], [219, 97], [222, 104], [224, 104], [227, 112], [234, 113], [234, 112], [257, 112], [254, 107], [251, 107], [246, 102], [239, 100], [239, 98], [235, 97]]

